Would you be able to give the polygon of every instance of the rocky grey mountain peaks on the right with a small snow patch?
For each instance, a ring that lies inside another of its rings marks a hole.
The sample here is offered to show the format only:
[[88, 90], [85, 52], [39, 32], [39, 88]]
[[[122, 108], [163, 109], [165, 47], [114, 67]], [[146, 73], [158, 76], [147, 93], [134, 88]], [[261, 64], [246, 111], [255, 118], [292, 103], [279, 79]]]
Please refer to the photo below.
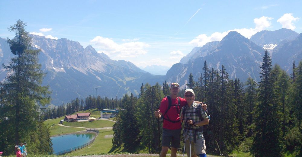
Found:
[[168, 82], [179, 82], [182, 88], [186, 88], [190, 73], [192, 72], [194, 80], [197, 81], [203, 73], [204, 61], [207, 61], [209, 68], [217, 70], [224, 65], [232, 79], [239, 78], [245, 82], [251, 77], [259, 81], [259, 66], [262, 64], [265, 49], [268, 49], [273, 64], [278, 63], [282, 69], [289, 72], [293, 61], [299, 62], [302, 59], [301, 36], [285, 28], [264, 30], [250, 39], [237, 32], [230, 32], [220, 42], [195, 47], [180, 63], [172, 66], [165, 79], [169, 80]]

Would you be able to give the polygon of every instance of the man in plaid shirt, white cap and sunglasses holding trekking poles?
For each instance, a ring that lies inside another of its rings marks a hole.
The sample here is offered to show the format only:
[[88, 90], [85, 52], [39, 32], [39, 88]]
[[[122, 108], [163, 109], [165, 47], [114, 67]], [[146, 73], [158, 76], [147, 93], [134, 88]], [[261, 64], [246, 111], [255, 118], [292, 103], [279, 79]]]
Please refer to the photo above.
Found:
[[[206, 157], [206, 145], [203, 136], [203, 125], [209, 123], [209, 118], [205, 108], [198, 107], [200, 104], [194, 102], [195, 94], [192, 89], [185, 90], [185, 100], [187, 105], [182, 108], [181, 119], [185, 120], [183, 135], [185, 138], [185, 145], [188, 157], [190, 157], [190, 142], [191, 142], [191, 157]], [[186, 108], [186, 109], [185, 109]], [[183, 111], [185, 109], [185, 114]], [[200, 109], [200, 117], [197, 109]]]

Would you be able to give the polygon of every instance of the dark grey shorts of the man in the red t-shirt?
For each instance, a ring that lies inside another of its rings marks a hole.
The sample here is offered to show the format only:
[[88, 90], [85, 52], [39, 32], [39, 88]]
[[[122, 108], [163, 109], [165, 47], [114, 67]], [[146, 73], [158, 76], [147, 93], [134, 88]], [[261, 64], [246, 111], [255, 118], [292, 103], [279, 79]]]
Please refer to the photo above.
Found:
[[179, 148], [181, 131], [182, 129], [169, 130], [162, 128], [162, 146]]

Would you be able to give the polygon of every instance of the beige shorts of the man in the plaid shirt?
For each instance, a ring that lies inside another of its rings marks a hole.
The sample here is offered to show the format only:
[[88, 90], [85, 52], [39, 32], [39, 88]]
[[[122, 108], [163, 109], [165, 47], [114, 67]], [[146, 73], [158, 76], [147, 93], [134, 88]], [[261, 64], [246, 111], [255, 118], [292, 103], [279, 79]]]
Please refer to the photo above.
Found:
[[[190, 157], [190, 141], [186, 140], [186, 151], [188, 157]], [[196, 143], [191, 141], [191, 156], [192, 155], [199, 155], [199, 154], [206, 154], [206, 143], [204, 141], [204, 137], [197, 139]]]

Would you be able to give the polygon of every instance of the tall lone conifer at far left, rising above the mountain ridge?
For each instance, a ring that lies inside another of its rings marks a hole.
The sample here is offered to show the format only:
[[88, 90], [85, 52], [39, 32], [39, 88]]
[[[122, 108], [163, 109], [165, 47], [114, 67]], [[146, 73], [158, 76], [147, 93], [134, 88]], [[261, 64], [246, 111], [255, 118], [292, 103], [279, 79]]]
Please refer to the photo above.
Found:
[[2, 65], [8, 74], [4, 82], [1, 83], [5, 92], [5, 101], [8, 102], [7, 115], [9, 121], [13, 123], [14, 143], [18, 144], [20, 140], [27, 138], [22, 130], [28, 133], [34, 131], [37, 127], [40, 106], [50, 102], [50, 91], [48, 86], [41, 86], [43, 76], [45, 75], [38, 64], [38, 55], [40, 50], [34, 50], [31, 47], [31, 37], [25, 30], [26, 23], [18, 20], [9, 30], [16, 32], [13, 39], [8, 39], [11, 52], [16, 57], [11, 58], [9, 65]]

